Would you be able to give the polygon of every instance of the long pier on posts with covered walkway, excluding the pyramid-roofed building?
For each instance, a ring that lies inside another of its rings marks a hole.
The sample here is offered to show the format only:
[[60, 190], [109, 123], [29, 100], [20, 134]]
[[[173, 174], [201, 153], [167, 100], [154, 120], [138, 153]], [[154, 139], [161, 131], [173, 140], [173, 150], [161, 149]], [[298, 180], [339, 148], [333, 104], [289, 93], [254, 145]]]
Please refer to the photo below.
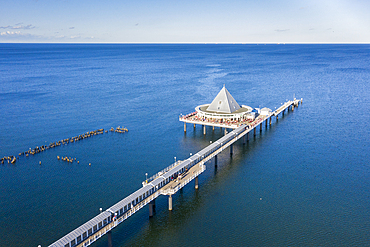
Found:
[[[293, 111], [294, 107], [297, 107], [299, 103], [302, 103], [302, 99], [287, 101], [275, 111], [265, 109], [253, 120], [240, 116], [238, 117], [233, 114], [228, 114], [232, 115], [232, 117], [230, 120], [226, 121], [225, 119], [216, 120], [217, 118], [201, 119], [199, 117], [195, 118], [197, 112], [180, 117], [180, 121], [184, 122], [184, 131], [186, 131], [187, 123], [194, 124], [194, 126], [200, 124], [203, 126], [227, 128], [232, 129], [232, 131], [198, 153], [191, 155], [188, 159], [177, 161], [143, 181], [142, 187], [137, 191], [105, 211], [101, 211], [99, 215], [52, 243], [49, 247], [89, 246], [105, 234], [108, 236], [108, 246], [112, 247], [113, 228], [117, 227], [146, 205], [148, 205], [148, 216], [153, 217], [156, 211], [155, 200], [161, 195], [168, 196], [168, 210], [173, 210], [172, 195], [181, 190], [184, 186], [193, 184], [190, 183], [193, 180], [194, 188], [198, 189], [198, 176], [206, 170], [206, 163], [208, 161], [213, 158], [215, 158], [216, 161], [217, 155], [228, 148], [230, 154], [232, 154], [235, 142], [242, 139], [244, 144], [245, 137], [248, 139], [250, 132], [253, 132], [255, 135], [258, 126], [260, 127], [260, 131], [262, 131], [263, 122], [265, 122], [266, 127], [268, 122], [269, 125], [271, 125], [272, 117], [278, 119], [280, 113], [284, 114], [285, 110], [289, 111], [290, 108]], [[244, 108], [250, 110], [247, 107]], [[205, 129], [205, 127], [203, 128]]]

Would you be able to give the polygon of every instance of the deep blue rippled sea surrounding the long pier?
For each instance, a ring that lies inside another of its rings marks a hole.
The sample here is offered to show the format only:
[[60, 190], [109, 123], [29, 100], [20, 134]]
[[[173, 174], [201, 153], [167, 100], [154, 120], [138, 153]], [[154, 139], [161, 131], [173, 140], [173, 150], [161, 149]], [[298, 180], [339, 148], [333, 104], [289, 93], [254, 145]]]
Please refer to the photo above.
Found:
[[224, 85], [240, 105], [302, 104], [113, 246], [370, 246], [369, 58], [368, 44], [0, 44], [0, 157], [18, 157], [0, 164], [0, 246], [46, 247], [222, 137], [179, 116]]

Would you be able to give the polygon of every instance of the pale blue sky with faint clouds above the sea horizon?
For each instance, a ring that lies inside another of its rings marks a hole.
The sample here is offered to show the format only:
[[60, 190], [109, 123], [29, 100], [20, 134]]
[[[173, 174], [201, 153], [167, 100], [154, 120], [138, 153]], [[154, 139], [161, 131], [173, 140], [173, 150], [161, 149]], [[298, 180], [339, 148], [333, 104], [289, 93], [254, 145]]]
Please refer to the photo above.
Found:
[[370, 1], [1, 0], [0, 43], [370, 43]]

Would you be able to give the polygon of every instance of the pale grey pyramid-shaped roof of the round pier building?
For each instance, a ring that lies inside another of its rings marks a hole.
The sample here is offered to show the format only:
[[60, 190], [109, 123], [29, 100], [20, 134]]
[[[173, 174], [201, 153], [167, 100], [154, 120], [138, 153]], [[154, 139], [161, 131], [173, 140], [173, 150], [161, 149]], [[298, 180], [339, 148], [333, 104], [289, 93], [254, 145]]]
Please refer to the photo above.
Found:
[[235, 101], [233, 96], [224, 87], [217, 94], [216, 98], [208, 106], [207, 111], [232, 113], [240, 109], [240, 105]]

